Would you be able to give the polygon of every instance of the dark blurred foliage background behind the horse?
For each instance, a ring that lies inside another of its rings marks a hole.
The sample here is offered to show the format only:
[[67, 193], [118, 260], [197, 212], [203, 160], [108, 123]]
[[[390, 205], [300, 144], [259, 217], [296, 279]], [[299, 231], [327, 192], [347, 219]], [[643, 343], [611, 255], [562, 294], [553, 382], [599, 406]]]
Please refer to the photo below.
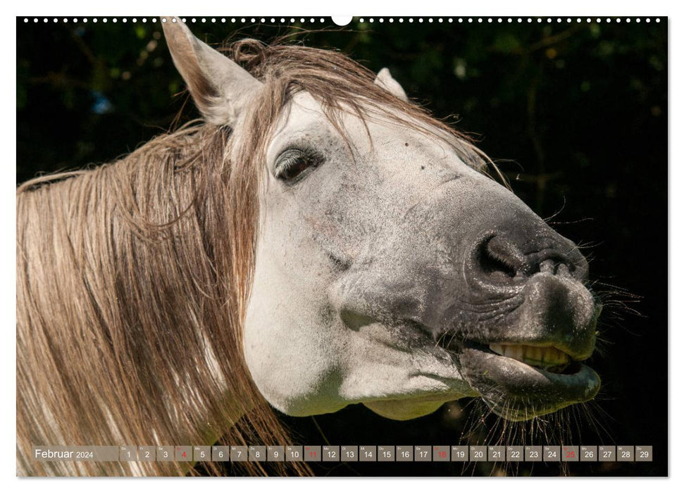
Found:
[[[111, 161], [173, 125], [184, 85], [161, 25], [17, 19], [17, 182]], [[586, 246], [604, 298], [591, 366], [604, 385], [588, 406], [517, 428], [463, 399], [394, 422], [363, 406], [316, 418], [283, 416], [301, 444], [653, 445], [652, 463], [523, 463], [520, 475], [666, 475], [667, 20], [656, 23], [190, 23], [207, 42], [292, 35], [387, 66], [435, 116], [475, 132], [518, 196]], [[250, 19], [247, 19], [249, 23]], [[289, 20], [289, 19], [288, 19]], [[297, 19], [299, 20], [299, 19]], [[257, 19], [257, 23], [259, 19]], [[247, 26], [247, 27], [245, 27]], [[302, 32], [301, 28], [323, 29]], [[197, 117], [186, 105], [180, 122]], [[454, 118], [452, 118], [452, 121]], [[555, 215], [555, 216], [554, 216]], [[511, 431], [513, 430], [513, 431]], [[517, 432], [516, 432], [517, 430]], [[515, 436], [514, 436], [514, 432]], [[545, 438], [545, 436], [547, 438]], [[318, 465], [322, 475], [490, 475], [492, 463]], [[226, 473], [235, 471], [226, 470]]]

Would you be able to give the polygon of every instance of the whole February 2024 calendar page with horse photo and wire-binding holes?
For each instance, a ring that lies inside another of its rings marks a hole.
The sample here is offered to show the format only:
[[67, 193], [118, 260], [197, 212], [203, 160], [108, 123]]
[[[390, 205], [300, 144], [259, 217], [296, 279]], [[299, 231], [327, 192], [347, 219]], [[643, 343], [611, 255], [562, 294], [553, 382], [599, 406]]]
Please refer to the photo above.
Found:
[[15, 22], [17, 475], [669, 475], [668, 18]]

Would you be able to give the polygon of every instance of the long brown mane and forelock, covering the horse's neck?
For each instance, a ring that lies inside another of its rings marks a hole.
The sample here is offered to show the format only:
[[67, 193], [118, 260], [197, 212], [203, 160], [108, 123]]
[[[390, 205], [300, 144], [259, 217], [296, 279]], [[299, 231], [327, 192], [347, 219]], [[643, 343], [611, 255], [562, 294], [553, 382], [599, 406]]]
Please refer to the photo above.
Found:
[[[264, 84], [235, 131], [190, 123], [113, 163], [18, 187], [21, 475], [195, 472], [173, 462], [42, 463], [31, 458], [34, 445], [290, 443], [249, 376], [242, 324], [263, 154], [293, 94], [320, 101], [343, 135], [342, 111], [364, 121], [385, 113], [421, 132], [428, 124], [483, 168], [463, 135], [339, 52], [252, 39], [224, 51]], [[240, 466], [266, 473], [260, 463]], [[304, 463], [274, 467], [311, 473]]]

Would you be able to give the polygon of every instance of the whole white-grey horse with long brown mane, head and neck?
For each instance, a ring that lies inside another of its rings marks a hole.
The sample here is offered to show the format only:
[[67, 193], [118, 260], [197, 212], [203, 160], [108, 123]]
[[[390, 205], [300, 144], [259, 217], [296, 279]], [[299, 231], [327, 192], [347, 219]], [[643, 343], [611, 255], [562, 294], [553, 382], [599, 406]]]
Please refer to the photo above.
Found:
[[31, 453], [287, 444], [273, 408], [478, 397], [518, 421], [595, 397], [587, 261], [471, 139], [386, 68], [163, 30], [202, 119], [17, 190], [18, 474], [193, 473]]

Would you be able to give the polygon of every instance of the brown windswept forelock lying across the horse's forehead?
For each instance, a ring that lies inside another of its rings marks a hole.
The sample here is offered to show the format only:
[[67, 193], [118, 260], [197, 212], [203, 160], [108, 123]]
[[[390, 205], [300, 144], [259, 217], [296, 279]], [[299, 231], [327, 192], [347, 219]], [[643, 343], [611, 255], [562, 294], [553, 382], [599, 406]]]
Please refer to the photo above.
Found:
[[397, 98], [374, 82], [376, 75], [372, 70], [339, 51], [281, 44], [285, 39], [276, 39], [273, 44], [242, 39], [219, 50], [263, 83], [263, 89], [251, 103], [251, 111], [247, 111], [248, 125], [244, 126], [249, 132], [251, 149], [265, 150], [282, 108], [294, 94], [306, 92], [321, 104], [325, 116], [344, 139], [348, 136], [340, 118], [343, 113], [351, 112], [363, 123], [373, 116], [387, 117], [441, 139], [468, 166], [485, 174], [491, 169], [505, 184], [497, 166], [475, 146], [471, 136], [438, 120], [423, 106]]

